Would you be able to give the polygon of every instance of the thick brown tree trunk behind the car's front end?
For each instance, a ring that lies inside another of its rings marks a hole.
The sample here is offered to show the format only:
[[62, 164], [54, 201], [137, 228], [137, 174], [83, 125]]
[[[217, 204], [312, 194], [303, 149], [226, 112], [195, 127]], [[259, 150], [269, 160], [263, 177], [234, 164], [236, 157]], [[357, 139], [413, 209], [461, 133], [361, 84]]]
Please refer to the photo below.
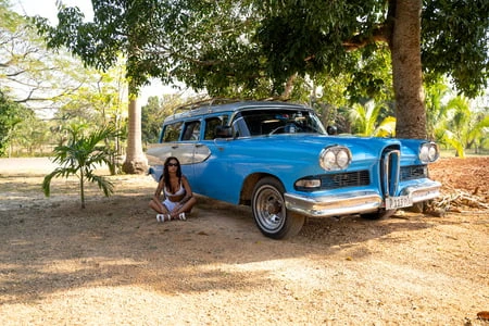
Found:
[[425, 139], [426, 110], [421, 62], [422, 0], [389, 1], [393, 29], [389, 40], [396, 93], [396, 135]]

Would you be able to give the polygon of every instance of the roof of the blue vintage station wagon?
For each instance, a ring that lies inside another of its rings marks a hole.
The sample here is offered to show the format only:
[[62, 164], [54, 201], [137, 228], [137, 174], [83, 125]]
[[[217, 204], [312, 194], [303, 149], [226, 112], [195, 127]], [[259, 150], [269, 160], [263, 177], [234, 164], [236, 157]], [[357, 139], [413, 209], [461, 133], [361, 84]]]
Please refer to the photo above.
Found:
[[[179, 106], [175, 109], [174, 114], [167, 116], [165, 122], [181, 120], [186, 117], [205, 115], [211, 113], [220, 113], [220, 112], [237, 112], [243, 109], [301, 109], [301, 110], [310, 110], [311, 108], [305, 106], [299, 103], [289, 103], [289, 102], [279, 102], [279, 101], [237, 101], [231, 103], [215, 103], [208, 102], [205, 104], [199, 104], [196, 106], [187, 105]], [[176, 113], [177, 111], [186, 110], [180, 113]]]

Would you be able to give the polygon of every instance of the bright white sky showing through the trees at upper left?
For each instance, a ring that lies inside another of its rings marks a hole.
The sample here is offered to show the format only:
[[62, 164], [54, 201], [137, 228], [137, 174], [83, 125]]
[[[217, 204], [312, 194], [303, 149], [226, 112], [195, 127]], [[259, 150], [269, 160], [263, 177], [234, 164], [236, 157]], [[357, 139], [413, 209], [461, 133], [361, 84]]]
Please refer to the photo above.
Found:
[[[60, 0], [58, 0], [60, 1]], [[93, 9], [90, 0], [61, 0], [67, 7], [78, 7], [85, 14], [85, 18], [90, 21], [93, 17]], [[48, 18], [52, 24], [58, 23], [57, 0], [10, 0], [12, 9], [22, 15], [40, 15]], [[150, 86], [141, 89], [140, 103], [145, 105], [148, 97], [161, 97], [163, 93], [175, 93], [176, 90], [170, 86], [163, 86], [159, 80], [153, 80]]]

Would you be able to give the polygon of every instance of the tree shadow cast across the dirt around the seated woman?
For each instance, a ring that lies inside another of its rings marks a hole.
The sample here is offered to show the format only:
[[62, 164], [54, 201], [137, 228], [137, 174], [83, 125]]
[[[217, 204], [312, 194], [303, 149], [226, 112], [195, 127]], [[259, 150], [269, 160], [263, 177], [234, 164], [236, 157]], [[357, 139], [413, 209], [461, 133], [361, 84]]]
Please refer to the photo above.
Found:
[[[187, 221], [156, 223], [148, 209], [152, 186], [89, 198], [86, 210], [79, 209], [73, 189], [62, 200], [53, 196], [35, 206], [4, 205], [0, 301], [38, 301], [90, 286], [143, 286], [170, 294], [252, 290], [274, 281], [269, 268], [250, 271], [254, 264], [304, 255], [334, 258], [352, 243], [431, 227], [422, 218], [314, 218], [297, 237], [273, 240], [261, 235], [249, 208], [203, 197]], [[0, 202], [8, 200], [1, 197]], [[356, 259], [371, 254], [358, 252]]]

